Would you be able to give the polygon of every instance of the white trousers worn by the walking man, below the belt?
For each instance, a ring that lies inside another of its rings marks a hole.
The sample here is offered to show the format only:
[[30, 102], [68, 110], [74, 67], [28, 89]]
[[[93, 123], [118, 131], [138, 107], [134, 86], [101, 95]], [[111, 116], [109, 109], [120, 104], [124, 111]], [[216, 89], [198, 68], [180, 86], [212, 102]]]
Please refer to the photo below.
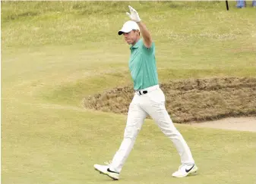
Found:
[[137, 92], [135, 92], [134, 98], [129, 106], [124, 139], [119, 150], [115, 153], [115, 156], [112, 159], [110, 170], [119, 173], [121, 172], [147, 114], [153, 118], [161, 131], [172, 140], [176, 150], [179, 152], [182, 164], [194, 164], [190, 148], [188, 148], [181, 133], [175, 128], [166, 111], [166, 100], [163, 91], [158, 85], [150, 87], [150, 89], [153, 89], [153, 91], [143, 95], [137, 95]]

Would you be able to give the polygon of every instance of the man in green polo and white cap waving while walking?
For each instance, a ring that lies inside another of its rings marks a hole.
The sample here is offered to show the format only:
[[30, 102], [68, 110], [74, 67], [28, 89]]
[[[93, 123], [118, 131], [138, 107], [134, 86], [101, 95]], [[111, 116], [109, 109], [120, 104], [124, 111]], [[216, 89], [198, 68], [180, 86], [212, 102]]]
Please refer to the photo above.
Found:
[[[131, 13], [126, 13], [131, 20], [125, 22], [119, 35], [131, 45], [129, 69], [134, 81], [134, 98], [128, 110], [124, 139], [112, 161], [106, 165], [95, 164], [95, 170], [106, 174], [114, 180], [119, 179], [123, 165], [134, 146], [147, 114], [160, 127], [161, 131], [172, 140], [181, 157], [181, 165], [174, 177], [184, 177], [196, 173], [198, 167], [194, 164], [190, 148], [181, 133], [175, 128], [165, 107], [165, 95], [158, 84], [156, 71], [155, 45], [149, 31], [134, 8], [128, 6]], [[141, 34], [143, 39], [141, 39]]]

